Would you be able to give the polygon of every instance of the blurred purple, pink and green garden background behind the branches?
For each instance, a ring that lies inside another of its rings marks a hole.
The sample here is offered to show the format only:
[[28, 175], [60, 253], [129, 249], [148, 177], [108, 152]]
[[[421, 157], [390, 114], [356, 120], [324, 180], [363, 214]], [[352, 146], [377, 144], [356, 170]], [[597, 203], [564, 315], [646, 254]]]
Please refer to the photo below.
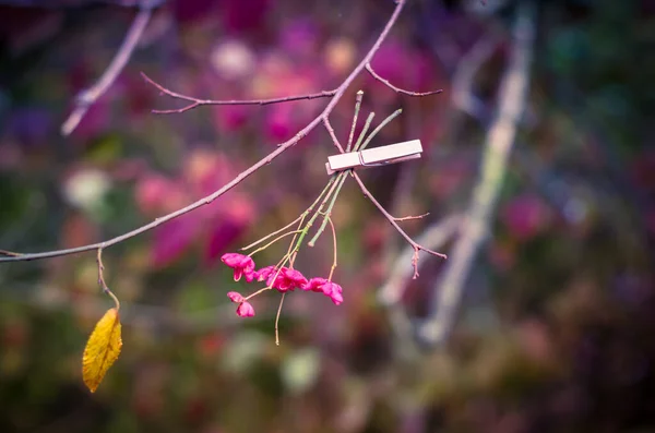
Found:
[[[177, 0], [155, 4], [128, 65], [80, 125], [60, 128], [105, 71], [134, 1], [0, 1], [0, 249], [108, 239], [195, 201], [275, 149], [324, 99], [179, 108], [140, 75], [201, 98], [332, 89], [359, 62], [392, 1]], [[500, 85], [519, 44], [517, 1], [409, 0], [331, 120], [345, 142], [403, 115], [372, 145], [420, 139], [418, 161], [361, 172], [407, 232], [451, 253], [477, 200]], [[489, 230], [457, 290], [450, 337], [419, 338], [448, 261], [421, 254], [346, 182], [333, 220], [345, 301], [279, 297], [239, 318], [226, 252], [295, 219], [326, 182], [324, 129], [223, 197], [107, 249], [123, 350], [95, 394], [81, 378], [91, 330], [112, 305], [95, 254], [0, 264], [2, 432], [654, 432], [655, 2], [536, 1], [523, 116]], [[504, 101], [507, 103], [507, 100]], [[258, 254], [277, 263], [279, 244]], [[326, 276], [330, 230], [297, 267]], [[453, 260], [451, 256], [450, 260]], [[407, 274], [408, 273], [408, 274]]]

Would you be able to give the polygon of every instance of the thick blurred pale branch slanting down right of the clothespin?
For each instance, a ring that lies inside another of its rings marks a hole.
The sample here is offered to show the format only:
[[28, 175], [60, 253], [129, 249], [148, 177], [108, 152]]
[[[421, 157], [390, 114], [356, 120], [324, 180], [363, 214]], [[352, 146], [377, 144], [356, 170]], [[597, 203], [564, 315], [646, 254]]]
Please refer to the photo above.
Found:
[[452, 260], [437, 281], [430, 315], [418, 328], [419, 337], [428, 345], [444, 342], [452, 329], [463, 287], [476, 253], [487, 236], [507, 165], [516, 136], [517, 123], [525, 109], [529, 85], [529, 64], [535, 37], [535, 5], [520, 3], [514, 25], [514, 48], [510, 64], [502, 77], [499, 109], [485, 142], [479, 181], [473, 193], [461, 236], [453, 248]]

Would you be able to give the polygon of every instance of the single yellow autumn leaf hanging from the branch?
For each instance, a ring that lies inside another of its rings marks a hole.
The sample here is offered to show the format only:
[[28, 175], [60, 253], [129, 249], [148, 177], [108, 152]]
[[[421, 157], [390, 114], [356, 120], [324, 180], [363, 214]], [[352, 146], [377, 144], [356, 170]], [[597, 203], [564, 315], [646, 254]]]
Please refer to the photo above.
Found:
[[95, 393], [107, 370], [118, 359], [121, 346], [118, 310], [110, 309], [91, 333], [82, 357], [82, 377], [92, 393]]

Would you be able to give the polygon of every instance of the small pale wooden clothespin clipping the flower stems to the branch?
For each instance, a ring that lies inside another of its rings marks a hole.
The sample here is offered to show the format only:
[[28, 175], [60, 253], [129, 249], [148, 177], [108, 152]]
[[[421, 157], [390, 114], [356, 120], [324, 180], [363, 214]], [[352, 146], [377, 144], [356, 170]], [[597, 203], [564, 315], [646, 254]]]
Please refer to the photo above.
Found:
[[343, 171], [352, 168], [383, 166], [386, 164], [420, 158], [422, 146], [420, 145], [420, 140], [412, 140], [409, 142], [390, 144], [388, 146], [333, 155], [327, 157], [325, 168], [327, 169], [327, 175], [332, 175], [335, 171]]

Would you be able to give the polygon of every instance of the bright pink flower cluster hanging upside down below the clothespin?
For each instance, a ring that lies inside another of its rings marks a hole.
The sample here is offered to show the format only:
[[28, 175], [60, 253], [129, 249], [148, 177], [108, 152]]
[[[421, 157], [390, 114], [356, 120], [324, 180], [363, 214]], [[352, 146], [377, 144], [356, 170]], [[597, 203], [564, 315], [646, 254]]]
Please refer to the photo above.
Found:
[[[338, 305], [344, 301], [342, 287], [325, 278], [314, 277], [307, 279], [299, 270], [285, 266], [281, 268], [266, 266], [255, 270], [252, 257], [238, 253], [223, 254], [221, 261], [234, 269], [235, 281], [245, 277], [248, 282], [265, 281], [266, 286], [272, 287], [281, 293], [300, 289], [303, 291], [323, 293], [330, 298], [335, 305]], [[239, 304], [237, 308], [237, 315], [240, 317], [252, 317], [254, 315], [254, 309], [241, 293], [230, 291], [227, 293], [227, 297], [230, 301]]]

